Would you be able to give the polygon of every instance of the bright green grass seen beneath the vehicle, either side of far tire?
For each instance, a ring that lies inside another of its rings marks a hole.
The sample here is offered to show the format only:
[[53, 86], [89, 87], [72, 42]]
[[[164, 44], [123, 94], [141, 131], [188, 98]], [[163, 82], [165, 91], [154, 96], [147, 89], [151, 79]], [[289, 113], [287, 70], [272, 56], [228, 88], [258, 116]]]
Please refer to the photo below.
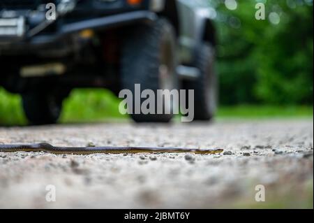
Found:
[[[123, 120], [128, 117], [119, 113], [119, 99], [105, 89], [75, 89], [63, 101], [61, 123], [103, 122], [106, 120]], [[21, 97], [9, 94], [0, 88], [0, 124], [24, 125]]]

